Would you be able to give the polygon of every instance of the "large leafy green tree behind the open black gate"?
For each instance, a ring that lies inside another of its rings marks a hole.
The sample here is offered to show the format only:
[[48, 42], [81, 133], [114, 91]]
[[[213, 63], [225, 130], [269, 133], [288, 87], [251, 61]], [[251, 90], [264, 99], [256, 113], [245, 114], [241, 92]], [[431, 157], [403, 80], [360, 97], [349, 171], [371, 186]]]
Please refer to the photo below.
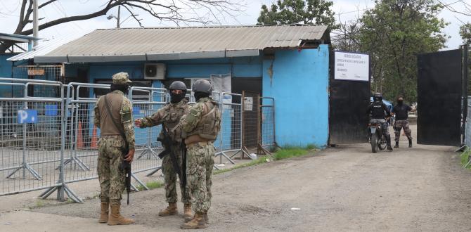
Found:
[[370, 53], [372, 89], [385, 98], [417, 98], [417, 55], [444, 48], [446, 26], [434, 0], [382, 0], [361, 18], [360, 50]]

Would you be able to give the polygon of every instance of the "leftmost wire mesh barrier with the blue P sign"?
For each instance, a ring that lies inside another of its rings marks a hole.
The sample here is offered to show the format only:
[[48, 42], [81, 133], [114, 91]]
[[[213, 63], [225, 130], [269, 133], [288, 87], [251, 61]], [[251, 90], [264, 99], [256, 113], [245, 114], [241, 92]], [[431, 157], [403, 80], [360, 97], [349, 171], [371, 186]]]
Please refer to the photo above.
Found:
[[[0, 195], [51, 188], [60, 183], [63, 161], [63, 86], [59, 82], [0, 78], [22, 96], [0, 98]], [[13, 83], [18, 81], [20, 83]], [[21, 83], [25, 82], [25, 83]], [[47, 86], [59, 98], [28, 96], [30, 86]]]

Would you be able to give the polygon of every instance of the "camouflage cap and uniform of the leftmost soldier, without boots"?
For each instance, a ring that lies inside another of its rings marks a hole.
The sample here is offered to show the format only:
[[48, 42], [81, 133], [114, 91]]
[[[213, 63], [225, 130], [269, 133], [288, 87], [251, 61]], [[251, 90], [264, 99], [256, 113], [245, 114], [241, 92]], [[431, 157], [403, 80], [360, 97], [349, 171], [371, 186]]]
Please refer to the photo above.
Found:
[[[118, 76], [117, 76], [118, 75]], [[120, 82], [127, 82], [127, 75], [120, 76], [120, 73], [113, 76], [113, 83], [120, 84]], [[100, 181], [101, 193], [100, 198], [102, 202], [114, 202], [118, 204], [122, 199], [122, 192], [124, 191], [124, 170], [120, 170], [120, 165], [123, 161], [124, 139], [116, 132], [114, 124], [110, 122], [110, 115], [104, 106], [104, 96], [98, 99], [98, 102], [93, 108], [95, 117], [93, 124], [101, 129], [101, 138], [98, 140], [98, 179]], [[111, 99], [110, 99], [111, 98]], [[120, 98], [122, 101], [120, 102]], [[116, 115], [120, 115], [117, 123], [122, 124], [124, 135], [128, 143], [129, 150], [134, 150], [134, 125], [132, 123], [132, 105], [131, 101], [124, 96], [124, 93], [119, 90], [112, 91], [108, 94], [108, 103], [110, 103], [110, 110]], [[112, 100], [112, 101], [110, 101]], [[115, 108], [113, 108], [115, 106]], [[119, 111], [117, 111], [119, 108]], [[110, 131], [110, 132], [105, 132]], [[113, 132], [114, 131], [114, 132]]]

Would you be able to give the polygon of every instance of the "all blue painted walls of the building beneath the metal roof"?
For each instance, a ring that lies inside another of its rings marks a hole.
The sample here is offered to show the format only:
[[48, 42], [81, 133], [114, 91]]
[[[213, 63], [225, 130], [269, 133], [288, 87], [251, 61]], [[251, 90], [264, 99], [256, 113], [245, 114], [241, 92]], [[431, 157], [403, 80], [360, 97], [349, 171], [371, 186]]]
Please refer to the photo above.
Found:
[[[116, 72], [128, 72], [131, 79], [143, 79], [145, 63], [91, 63], [89, 82], [93, 83], [95, 79], [111, 79]], [[273, 97], [276, 101], [278, 145], [327, 145], [328, 45], [301, 51], [276, 51], [273, 60], [263, 60], [262, 56], [256, 56], [162, 60], [159, 63], [167, 65], [167, 78], [171, 79], [209, 77], [211, 74], [224, 73], [232, 73], [233, 78], [263, 77], [262, 95]], [[153, 86], [160, 87], [161, 82], [154, 81]], [[223, 135], [224, 141], [226, 136], [230, 135]], [[143, 139], [137, 136], [136, 142], [144, 143]]]

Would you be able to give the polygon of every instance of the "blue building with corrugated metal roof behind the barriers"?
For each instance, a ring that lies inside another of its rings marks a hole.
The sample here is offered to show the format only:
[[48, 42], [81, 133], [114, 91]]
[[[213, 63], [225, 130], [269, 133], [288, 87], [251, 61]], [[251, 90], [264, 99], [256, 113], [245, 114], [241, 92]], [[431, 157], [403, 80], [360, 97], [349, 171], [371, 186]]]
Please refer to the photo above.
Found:
[[232, 93], [275, 99], [279, 146], [323, 147], [328, 143], [329, 44], [327, 27], [316, 25], [111, 29], [95, 30], [35, 56], [34, 62], [65, 63], [66, 77], [87, 83], [109, 83], [116, 72], [153, 87], [230, 76]]

